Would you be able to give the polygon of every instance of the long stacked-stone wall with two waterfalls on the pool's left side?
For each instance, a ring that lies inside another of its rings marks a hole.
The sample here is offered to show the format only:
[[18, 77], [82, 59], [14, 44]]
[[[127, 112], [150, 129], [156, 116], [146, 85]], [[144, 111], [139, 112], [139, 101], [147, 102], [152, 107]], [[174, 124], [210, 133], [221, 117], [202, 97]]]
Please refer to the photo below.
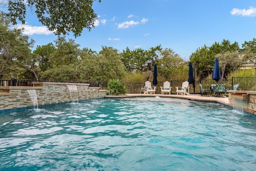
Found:
[[[67, 85], [76, 85], [77, 93], [70, 92]], [[0, 114], [33, 107], [28, 89], [36, 90], [38, 106], [71, 102], [77, 97], [78, 100], [102, 98], [106, 94], [106, 90], [81, 83], [33, 82], [33, 86], [0, 86]]]

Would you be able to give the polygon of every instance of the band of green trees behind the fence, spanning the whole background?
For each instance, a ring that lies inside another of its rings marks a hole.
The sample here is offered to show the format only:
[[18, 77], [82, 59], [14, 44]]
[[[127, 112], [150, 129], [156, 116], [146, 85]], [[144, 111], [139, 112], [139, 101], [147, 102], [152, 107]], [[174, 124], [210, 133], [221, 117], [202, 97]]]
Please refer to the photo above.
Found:
[[[96, 52], [86, 47], [79, 49], [80, 45], [73, 39], [58, 36], [55, 45], [37, 46], [32, 52], [34, 40], [22, 35], [22, 29], [11, 26], [10, 17], [0, 13], [0, 79], [108, 82], [134, 75], [136, 82], [138, 78], [144, 82], [152, 78], [154, 64], [157, 64], [162, 80], [188, 77], [188, 61], [172, 49], [162, 50], [161, 45], [134, 50], [126, 47], [121, 53], [113, 47], [102, 46], [102, 50]], [[198, 76], [201, 73], [207, 76], [212, 73], [214, 58], [218, 57], [223, 79], [243, 63], [255, 62], [255, 47], [256, 39], [245, 41], [243, 49], [236, 41], [230, 43], [224, 39], [210, 47], [199, 47], [190, 55], [190, 61], [195, 64]]]

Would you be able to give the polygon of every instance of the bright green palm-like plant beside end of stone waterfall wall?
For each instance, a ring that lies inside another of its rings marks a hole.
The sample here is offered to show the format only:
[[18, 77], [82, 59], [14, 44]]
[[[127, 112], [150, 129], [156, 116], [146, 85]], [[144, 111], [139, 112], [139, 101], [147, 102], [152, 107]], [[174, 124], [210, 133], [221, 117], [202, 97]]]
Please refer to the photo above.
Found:
[[126, 88], [122, 85], [120, 80], [110, 79], [108, 81], [107, 90], [110, 91], [110, 94], [120, 95], [126, 92]]

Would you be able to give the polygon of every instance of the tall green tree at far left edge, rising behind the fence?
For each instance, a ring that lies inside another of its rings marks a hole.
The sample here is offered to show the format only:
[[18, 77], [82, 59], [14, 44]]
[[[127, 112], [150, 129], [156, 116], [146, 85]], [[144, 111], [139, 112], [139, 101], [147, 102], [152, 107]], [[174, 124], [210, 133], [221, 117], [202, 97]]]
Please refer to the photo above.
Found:
[[22, 35], [21, 29], [10, 29], [10, 18], [0, 13], [0, 79], [21, 77], [26, 58], [31, 54], [34, 41]]

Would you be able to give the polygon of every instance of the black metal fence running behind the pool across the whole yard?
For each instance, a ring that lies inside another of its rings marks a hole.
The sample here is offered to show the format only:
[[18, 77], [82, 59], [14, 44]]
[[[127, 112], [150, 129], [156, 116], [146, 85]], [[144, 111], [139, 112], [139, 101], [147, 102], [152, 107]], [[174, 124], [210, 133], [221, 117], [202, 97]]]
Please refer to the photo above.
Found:
[[[26, 80], [26, 79], [0, 79], [0, 86], [33, 86], [32, 82], [42, 81], [42, 80]], [[186, 80], [172, 80], [169, 81], [172, 86], [172, 94], [176, 94], [176, 86], [182, 86], [182, 83]], [[62, 82], [62, 83], [87, 83], [90, 84], [89, 87], [100, 87], [100, 89], [105, 89], [108, 86], [106, 82], [93, 82], [93, 81], [44, 81], [44, 82]], [[199, 83], [202, 84], [204, 88], [208, 88], [211, 84], [216, 84], [214, 80], [201, 80], [195, 81], [195, 86], [190, 84], [190, 93], [200, 93]], [[219, 83], [226, 84], [228, 90], [232, 90], [235, 84], [240, 83], [238, 90], [256, 91], [256, 77], [232, 77], [230, 80], [222, 80]], [[126, 93], [137, 94], [142, 93], [142, 88], [144, 83], [122, 83], [126, 87]], [[160, 86], [163, 86], [163, 82], [158, 82], [156, 87], [156, 93], [161, 94]]]

